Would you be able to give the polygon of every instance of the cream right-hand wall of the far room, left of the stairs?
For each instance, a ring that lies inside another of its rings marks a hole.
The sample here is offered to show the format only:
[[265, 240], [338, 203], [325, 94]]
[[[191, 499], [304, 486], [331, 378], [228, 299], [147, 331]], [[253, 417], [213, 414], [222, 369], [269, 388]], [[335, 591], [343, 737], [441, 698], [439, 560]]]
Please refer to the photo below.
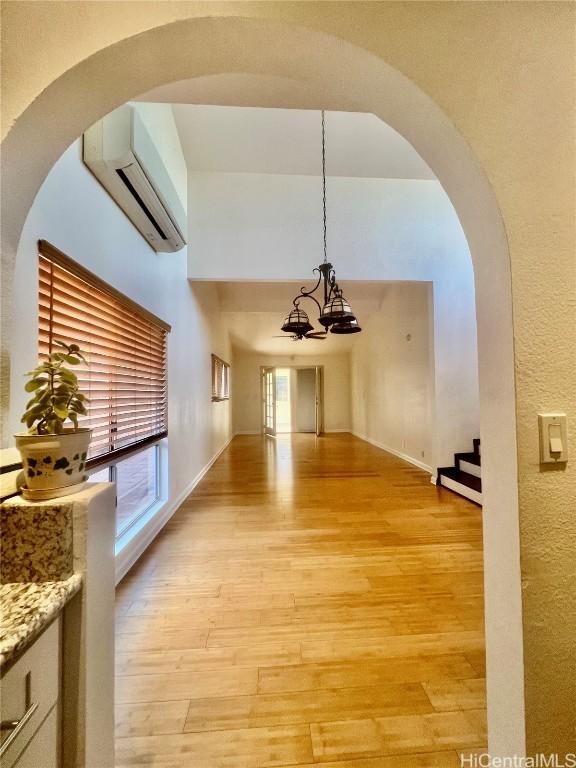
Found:
[[426, 466], [433, 449], [431, 294], [430, 283], [387, 286], [350, 355], [353, 431]]

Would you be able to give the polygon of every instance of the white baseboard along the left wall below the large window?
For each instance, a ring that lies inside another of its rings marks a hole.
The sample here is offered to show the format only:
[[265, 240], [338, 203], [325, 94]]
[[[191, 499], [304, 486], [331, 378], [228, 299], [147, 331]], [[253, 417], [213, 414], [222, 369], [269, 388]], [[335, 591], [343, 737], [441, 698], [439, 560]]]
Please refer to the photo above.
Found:
[[[200, 472], [198, 472], [196, 477], [174, 500], [166, 501], [159, 509], [152, 511], [151, 517], [148, 519], [144, 518], [140, 530], [126, 542], [126, 545], [122, 547], [120, 551], [117, 551], [115, 558], [116, 584], [124, 578], [138, 558], [144, 554], [162, 528], [164, 528], [168, 520], [170, 520], [172, 515], [179, 509], [180, 505], [192, 493], [214, 462], [226, 448], [228, 448], [234, 437], [235, 434], [232, 434], [224, 445], [216, 451], [210, 461], [200, 470]], [[134, 529], [131, 529], [131, 532], [134, 533]], [[120, 539], [120, 542], [121, 541], [122, 539]]]

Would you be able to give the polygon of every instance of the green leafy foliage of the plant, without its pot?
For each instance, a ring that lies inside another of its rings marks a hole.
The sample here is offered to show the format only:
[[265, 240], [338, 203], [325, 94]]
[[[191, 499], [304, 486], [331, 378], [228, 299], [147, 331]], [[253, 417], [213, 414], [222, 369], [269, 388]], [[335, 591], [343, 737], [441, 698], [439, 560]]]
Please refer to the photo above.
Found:
[[55, 343], [62, 351], [52, 352], [47, 362], [26, 374], [30, 381], [25, 390], [34, 395], [26, 404], [21, 421], [33, 435], [60, 434], [66, 419], [78, 429], [78, 416], [86, 415], [88, 398], [80, 392], [76, 374], [64, 365], [86, 363], [85, 353], [77, 344]]

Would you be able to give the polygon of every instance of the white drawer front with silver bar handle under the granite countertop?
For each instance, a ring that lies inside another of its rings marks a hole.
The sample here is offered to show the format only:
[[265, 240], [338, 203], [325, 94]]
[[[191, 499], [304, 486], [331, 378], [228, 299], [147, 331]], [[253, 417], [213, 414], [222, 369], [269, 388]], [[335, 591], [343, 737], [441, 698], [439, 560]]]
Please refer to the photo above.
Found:
[[[2, 731], [0, 767], [11, 768], [58, 701], [60, 687], [60, 618], [24, 651], [0, 681], [0, 715], [3, 722], [20, 721], [17, 733]], [[56, 710], [55, 710], [56, 711]], [[50, 765], [46, 755], [47, 765]]]

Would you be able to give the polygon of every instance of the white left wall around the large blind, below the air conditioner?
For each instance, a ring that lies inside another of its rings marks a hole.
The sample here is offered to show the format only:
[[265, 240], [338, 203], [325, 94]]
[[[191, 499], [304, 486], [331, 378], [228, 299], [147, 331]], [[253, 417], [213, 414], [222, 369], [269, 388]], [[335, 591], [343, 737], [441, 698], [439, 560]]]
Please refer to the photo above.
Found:
[[[168, 108], [169, 109], [169, 108]], [[230, 435], [229, 403], [211, 402], [210, 353], [228, 359], [213, 286], [186, 279], [186, 252], [158, 254], [81, 161], [75, 142], [56, 163], [27, 218], [18, 248], [12, 336], [11, 429], [27, 399], [23, 374], [38, 339], [37, 241], [46, 239], [172, 325], [168, 341], [168, 501], [177, 499]]]

